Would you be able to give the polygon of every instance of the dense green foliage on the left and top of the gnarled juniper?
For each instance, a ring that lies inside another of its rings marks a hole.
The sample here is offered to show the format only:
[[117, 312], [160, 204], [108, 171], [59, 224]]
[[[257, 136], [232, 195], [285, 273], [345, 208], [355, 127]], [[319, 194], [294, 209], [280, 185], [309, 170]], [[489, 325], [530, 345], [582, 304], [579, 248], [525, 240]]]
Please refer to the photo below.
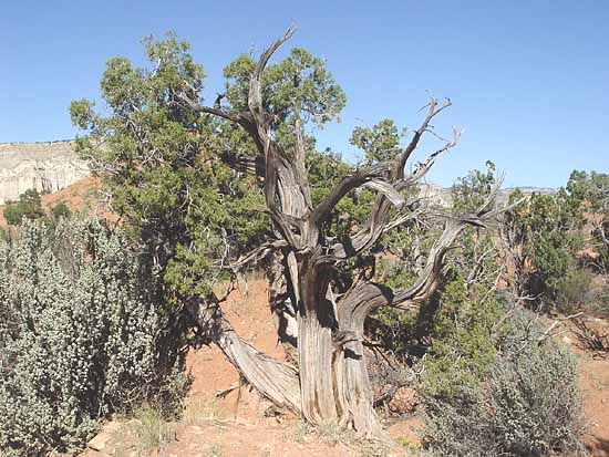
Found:
[[[214, 116], [202, 116], [203, 67], [173, 33], [144, 41], [148, 65], [111, 59], [102, 79], [107, 116], [93, 103], [74, 101], [72, 122], [86, 136], [80, 155], [105, 179], [112, 207], [143, 240], [167, 285], [167, 298], [206, 294], [227, 279], [221, 266], [260, 245], [270, 230], [256, 178], [236, 174], [223, 153], [256, 155], [247, 133]], [[224, 71], [220, 100], [229, 113], [247, 106], [254, 60], [240, 55]], [[292, 49], [267, 66], [265, 108], [273, 116], [273, 136], [287, 150], [297, 122], [323, 125], [344, 105], [344, 94], [324, 62]], [[313, 141], [306, 135], [308, 152]], [[103, 146], [102, 146], [103, 144]]]

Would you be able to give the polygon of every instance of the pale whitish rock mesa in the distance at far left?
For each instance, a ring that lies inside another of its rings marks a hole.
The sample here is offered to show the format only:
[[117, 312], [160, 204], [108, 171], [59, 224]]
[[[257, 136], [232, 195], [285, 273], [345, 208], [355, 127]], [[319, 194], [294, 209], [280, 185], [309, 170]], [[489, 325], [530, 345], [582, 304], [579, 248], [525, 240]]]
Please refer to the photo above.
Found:
[[0, 205], [28, 189], [55, 193], [91, 175], [71, 141], [0, 143]]

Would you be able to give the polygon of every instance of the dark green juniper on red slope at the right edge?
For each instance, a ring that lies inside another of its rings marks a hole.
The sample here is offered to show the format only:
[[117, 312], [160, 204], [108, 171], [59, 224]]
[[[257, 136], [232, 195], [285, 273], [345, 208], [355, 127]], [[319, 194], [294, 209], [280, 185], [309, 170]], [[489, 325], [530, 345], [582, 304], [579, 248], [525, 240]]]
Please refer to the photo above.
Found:
[[[517, 190], [510, 201], [523, 197]], [[520, 257], [516, 278], [520, 293], [534, 297], [546, 310], [587, 308], [591, 283], [587, 269], [607, 271], [608, 215], [609, 175], [595, 172], [576, 170], [557, 194], [533, 194], [516, 206], [506, 227]]]

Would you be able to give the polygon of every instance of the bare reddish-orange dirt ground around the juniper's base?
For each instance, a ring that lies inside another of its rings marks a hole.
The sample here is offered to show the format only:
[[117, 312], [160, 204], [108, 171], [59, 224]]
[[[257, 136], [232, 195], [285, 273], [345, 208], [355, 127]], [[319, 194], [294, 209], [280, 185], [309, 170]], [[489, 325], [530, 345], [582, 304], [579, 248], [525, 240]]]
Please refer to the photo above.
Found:
[[[234, 291], [226, 314], [236, 331], [276, 357], [285, 353], [273, 336], [273, 323], [266, 308], [267, 287], [251, 280]], [[590, 423], [586, 444], [595, 457], [609, 456], [609, 360], [580, 350], [572, 336], [564, 337], [580, 357], [581, 390]], [[158, 432], [158, 448], [142, 447], [137, 420], [106, 424], [100, 435], [107, 439], [102, 450], [87, 449], [82, 457], [97, 456], [409, 456], [421, 442], [422, 420], [415, 416], [388, 424], [390, 435], [404, 445], [382, 448], [355, 442], [338, 430], [307, 430], [297, 417], [275, 414], [271, 405], [239, 386], [236, 370], [216, 347], [190, 352], [188, 370], [194, 376], [184, 417]], [[223, 398], [218, 392], [230, 391]], [[149, 440], [149, 438], [148, 438]]]

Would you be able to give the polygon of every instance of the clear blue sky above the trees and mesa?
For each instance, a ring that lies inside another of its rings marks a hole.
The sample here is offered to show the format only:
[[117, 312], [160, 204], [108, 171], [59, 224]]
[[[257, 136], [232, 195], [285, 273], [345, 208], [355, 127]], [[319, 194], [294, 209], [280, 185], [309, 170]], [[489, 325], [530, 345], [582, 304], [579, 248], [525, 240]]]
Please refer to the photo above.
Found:
[[432, 181], [451, 184], [487, 158], [507, 173], [508, 186], [560, 186], [574, 168], [609, 172], [602, 0], [7, 0], [0, 142], [73, 137], [70, 101], [96, 100], [105, 61], [140, 61], [146, 34], [173, 29], [188, 40], [213, 100], [223, 66], [252, 45], [259, 51], [291, 21], [299, 30], [290, 44], [326, 58], [348, 96], [343, 122], [320, 132], [320, 147], [352, 158], [354, 125], [392, 117], [416, 126], [429, 89], [454, 103], [438, 132], [466, 128]]

